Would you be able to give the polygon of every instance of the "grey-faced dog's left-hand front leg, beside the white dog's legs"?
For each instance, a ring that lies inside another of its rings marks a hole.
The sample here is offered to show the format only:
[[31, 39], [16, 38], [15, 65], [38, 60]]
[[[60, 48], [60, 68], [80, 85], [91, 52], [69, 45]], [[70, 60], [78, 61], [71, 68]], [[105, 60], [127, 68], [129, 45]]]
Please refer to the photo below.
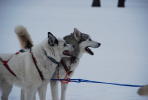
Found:
[[58, 81], [50, 81], [52, 100], [59, 100]]

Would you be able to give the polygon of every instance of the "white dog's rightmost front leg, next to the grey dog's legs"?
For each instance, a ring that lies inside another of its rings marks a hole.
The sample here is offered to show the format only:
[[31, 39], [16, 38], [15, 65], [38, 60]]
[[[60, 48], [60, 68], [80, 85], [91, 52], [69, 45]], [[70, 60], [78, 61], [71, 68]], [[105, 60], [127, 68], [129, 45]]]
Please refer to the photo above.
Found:
[[48, 83], [43, 83], [38, 89], [40, 100], [46, 100], [47, 84]]

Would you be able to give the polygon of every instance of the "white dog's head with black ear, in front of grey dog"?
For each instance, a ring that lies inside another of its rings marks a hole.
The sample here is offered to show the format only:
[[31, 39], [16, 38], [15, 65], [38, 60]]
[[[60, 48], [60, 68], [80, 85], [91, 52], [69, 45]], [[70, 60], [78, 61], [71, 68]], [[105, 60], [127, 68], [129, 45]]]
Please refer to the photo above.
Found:
[[52, 52], [58, 52], [60, 57], [71, 57], [73, 47], [62, 39], [57, 39], [51, 32], [48, 32], [48, 45], [53, 48]]

